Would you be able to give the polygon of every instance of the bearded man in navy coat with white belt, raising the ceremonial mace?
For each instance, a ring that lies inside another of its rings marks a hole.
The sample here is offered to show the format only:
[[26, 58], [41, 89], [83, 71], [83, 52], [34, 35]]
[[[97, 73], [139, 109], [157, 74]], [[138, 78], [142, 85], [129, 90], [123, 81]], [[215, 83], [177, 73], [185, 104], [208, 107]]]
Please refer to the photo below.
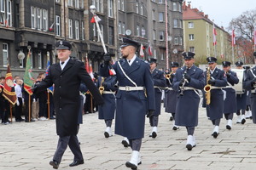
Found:
[[[154, 112], [154, 84], [149, 65], [137, 58], [138, 43], [123, 38], [121, 54], [123, 59], [115, 62], [119, 90], [116, 94], [115, 132], [129, 139], [132, 155], [131, 161], [126, 161], [126, 167], [137, 169], [140, 164], [142, 139], [144, 137], [145, 115], [152, 116]], [[109, 76], [109, 55], [104, 56], [102, 77]]]

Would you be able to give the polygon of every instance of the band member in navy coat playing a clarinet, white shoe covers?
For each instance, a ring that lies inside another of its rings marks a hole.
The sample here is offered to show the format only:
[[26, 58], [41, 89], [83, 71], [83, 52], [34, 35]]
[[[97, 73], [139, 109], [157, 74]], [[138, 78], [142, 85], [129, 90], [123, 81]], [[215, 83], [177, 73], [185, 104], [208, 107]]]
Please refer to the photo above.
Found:
[[186, 148], [195, 147], [195, 127], [198, 125], [198, 107], [200, 102], [199, 89], [204, 88], [205, 78], [203, 71], [194, 65], [194, 53], [183, 53], [184, 66], [177, 69], [173, 79], [173, 89], [177, 96], [175, 123], [187, 128], [188, 138]]

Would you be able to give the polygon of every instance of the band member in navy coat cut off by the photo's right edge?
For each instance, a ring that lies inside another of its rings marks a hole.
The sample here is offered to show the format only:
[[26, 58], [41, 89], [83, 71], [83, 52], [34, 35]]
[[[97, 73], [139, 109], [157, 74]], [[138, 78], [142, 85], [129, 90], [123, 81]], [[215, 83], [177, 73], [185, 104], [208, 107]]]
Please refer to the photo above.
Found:
[[[256, 63], [256, 52], [253, 53], [254, 62]], [[251, 108], [253, 123], [256, 124], [256, 66], [247, 71], [247, 77], [243, 84], [246, 90], [251, 90]]]

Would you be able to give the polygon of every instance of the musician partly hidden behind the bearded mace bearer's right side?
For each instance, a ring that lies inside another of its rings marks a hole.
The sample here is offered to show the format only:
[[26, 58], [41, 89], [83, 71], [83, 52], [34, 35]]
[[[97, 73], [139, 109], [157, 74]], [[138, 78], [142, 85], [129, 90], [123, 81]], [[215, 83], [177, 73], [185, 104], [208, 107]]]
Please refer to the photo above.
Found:
[[154, 101], [155, 101], [155, 111], [152, 116], [149, 117], [149, 123], [152, 127], [152, 132], [149, 137], [155, 138], [157, 136], [157, 126], [159, 122], [159, 116], [161, 112], [161, 96], [162, 89], [166, 88], [166, 78], [164, 77], [164, 72], [156, 68], [157, 59], [149, 59], [150, 72], [153, 77], [154, 82]]

